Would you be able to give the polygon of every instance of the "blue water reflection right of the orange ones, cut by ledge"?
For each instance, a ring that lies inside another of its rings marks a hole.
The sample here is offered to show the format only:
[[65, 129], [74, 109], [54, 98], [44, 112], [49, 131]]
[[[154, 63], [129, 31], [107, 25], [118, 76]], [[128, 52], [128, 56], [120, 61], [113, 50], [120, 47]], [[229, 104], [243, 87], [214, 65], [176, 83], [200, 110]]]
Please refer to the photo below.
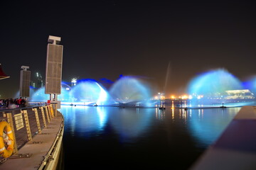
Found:
[[189, 110], [188, 130], [198, 147], [208, 147], [218, 139], [240, 108]]

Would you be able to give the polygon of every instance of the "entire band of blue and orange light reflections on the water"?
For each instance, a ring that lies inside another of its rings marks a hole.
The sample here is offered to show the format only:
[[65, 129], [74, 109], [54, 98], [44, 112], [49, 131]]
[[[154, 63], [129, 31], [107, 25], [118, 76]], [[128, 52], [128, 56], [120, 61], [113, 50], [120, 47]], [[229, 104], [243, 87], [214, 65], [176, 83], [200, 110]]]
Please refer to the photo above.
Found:
[[[223, 132], [240, 108], [184, 109], [167, 108], [114, 108], [90, 106], [61, 106], [65, 128], [72, 135], [90, 137], [104, 131], [109, 123], [120, 139], [127, 141], [149, 132], [155, 120], [168, 123], [188, 124], [188, 135], [194, 137], [197, 145], [212, 144]], [[169, 121], [169, 119], [171, 121]], [[153, 121], [152, 121], [153, 120]], [[174, 124], [176, 125], [176, 124]]]

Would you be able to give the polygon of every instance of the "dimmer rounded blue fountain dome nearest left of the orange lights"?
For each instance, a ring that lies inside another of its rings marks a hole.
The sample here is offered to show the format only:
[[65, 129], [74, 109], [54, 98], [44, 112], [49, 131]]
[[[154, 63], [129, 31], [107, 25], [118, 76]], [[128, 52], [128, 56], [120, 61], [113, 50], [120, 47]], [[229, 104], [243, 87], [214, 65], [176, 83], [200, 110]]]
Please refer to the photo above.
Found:
[[119, 106], [149, 106], [151, 91], [135, 77], [121, 77], [110, 89], [110, 95]]

